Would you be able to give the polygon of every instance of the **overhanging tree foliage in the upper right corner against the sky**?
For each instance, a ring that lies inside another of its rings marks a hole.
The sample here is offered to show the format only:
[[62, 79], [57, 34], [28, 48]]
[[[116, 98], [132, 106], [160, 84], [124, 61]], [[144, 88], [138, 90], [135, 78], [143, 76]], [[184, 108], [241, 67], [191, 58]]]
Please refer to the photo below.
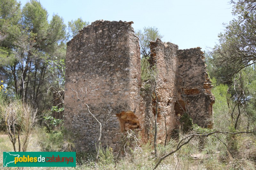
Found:
[[215, 63], [234, 76], [241, 69], [256, 63], [255, 32], [256, 8], [252, 0], [232, 1], [233, 15], [236, 16], [228, 24], [224, 33], [219, 34], [219, 44], [215, 46]]

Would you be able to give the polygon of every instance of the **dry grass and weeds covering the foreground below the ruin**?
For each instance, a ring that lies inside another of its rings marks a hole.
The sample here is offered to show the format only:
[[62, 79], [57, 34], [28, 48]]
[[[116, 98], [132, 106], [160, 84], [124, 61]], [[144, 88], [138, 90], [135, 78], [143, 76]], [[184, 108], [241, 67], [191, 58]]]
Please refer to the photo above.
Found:
[[[40, 131], [39, 136], [37, 133], [38, 131]], [[42, 134], [41, 129], [33, 131], [31, 141], [28, 145], [28, 152], [41, 151], [38, 142], [41, 140], [42, 135], [44, 134]], [[222, 137], [223, 140], [225, 140], [224, 138], [225, 137]], [[194, 138], [190, 143], [184, 145], [180, 151], [166, 158], [157, 169], [255, 169], [256, 140], [247, 135], [240, 135], [236, 139], [238, 141], [238, 151], [234, 151], [235, 159], [228, 154], [225, 146], [213, 137], [205, 139], [203, 147], [199, 147], [200, 142], [202, 141], [199, 138]], [[177, 142], [172, 140], [166, 147], [158, 145], [157, 150], [159, 157], [172, 151], [176, 144]], [[8, 136], [1, 132], [0, 166], [3, 166], [2, 152], [12, 150], [12, 144], [9, 141]], [[111, 149], [109, 150], [111, 151]], [[156, 163], [153, 151], [153, 145], [143, 144], [140, 149], [136, 150], [136, 152], [131, 150], [131, 152], [128, 152], [125, 157], [117, 162], [114, 160], [105, 160], [108, 159], [105, 158], [95, 164], [94, 157], [87, 155], [86, 159], [79, 158], [80, 163], [77, 163], [76, 167], [31, 167], [25, 169], [153, 169]]]

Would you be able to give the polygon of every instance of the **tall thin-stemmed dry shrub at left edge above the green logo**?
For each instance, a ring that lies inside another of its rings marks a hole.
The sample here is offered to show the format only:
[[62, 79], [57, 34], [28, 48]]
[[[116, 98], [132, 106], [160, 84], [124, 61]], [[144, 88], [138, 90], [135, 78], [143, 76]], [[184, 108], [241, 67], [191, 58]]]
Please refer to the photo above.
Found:
[[26, 152], [31, 137], [32, 129], [36, 124], [37, 109], [30, 104], [22, 102], [17, 97], [7, 97], [0, 94], [0, 117], [3, 119], [2, 126], [16, 151], [18, 140], [18, 150]]

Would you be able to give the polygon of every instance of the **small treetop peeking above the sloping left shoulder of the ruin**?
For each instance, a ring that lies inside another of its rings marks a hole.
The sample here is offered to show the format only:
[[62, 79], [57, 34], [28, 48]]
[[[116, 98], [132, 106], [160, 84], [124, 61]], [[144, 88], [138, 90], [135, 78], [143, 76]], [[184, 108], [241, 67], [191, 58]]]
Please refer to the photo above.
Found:
[[68, 21], [69, 37], [75, 36], [79, 30], [83, 29], [87, 25], [89, 25], [89, 22], [83, 21], [81, 17], [77, 18], [75, 21]]

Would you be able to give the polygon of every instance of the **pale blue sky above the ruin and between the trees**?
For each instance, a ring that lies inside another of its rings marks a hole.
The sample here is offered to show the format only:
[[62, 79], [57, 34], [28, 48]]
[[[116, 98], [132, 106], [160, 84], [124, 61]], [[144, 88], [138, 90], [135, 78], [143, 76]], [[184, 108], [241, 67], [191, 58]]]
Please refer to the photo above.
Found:
[[[22, 6], [28, 0], [20, 1]], [[232, 18], [229, 0], [40, 0], [48, 11], [64, 22], [82, 17], [90, 23], [98, 20], [133, 21], [134, 30], [155, 26], [164, 35], [162, 41], [180, 49], [214, 47], [222, 23]]]

